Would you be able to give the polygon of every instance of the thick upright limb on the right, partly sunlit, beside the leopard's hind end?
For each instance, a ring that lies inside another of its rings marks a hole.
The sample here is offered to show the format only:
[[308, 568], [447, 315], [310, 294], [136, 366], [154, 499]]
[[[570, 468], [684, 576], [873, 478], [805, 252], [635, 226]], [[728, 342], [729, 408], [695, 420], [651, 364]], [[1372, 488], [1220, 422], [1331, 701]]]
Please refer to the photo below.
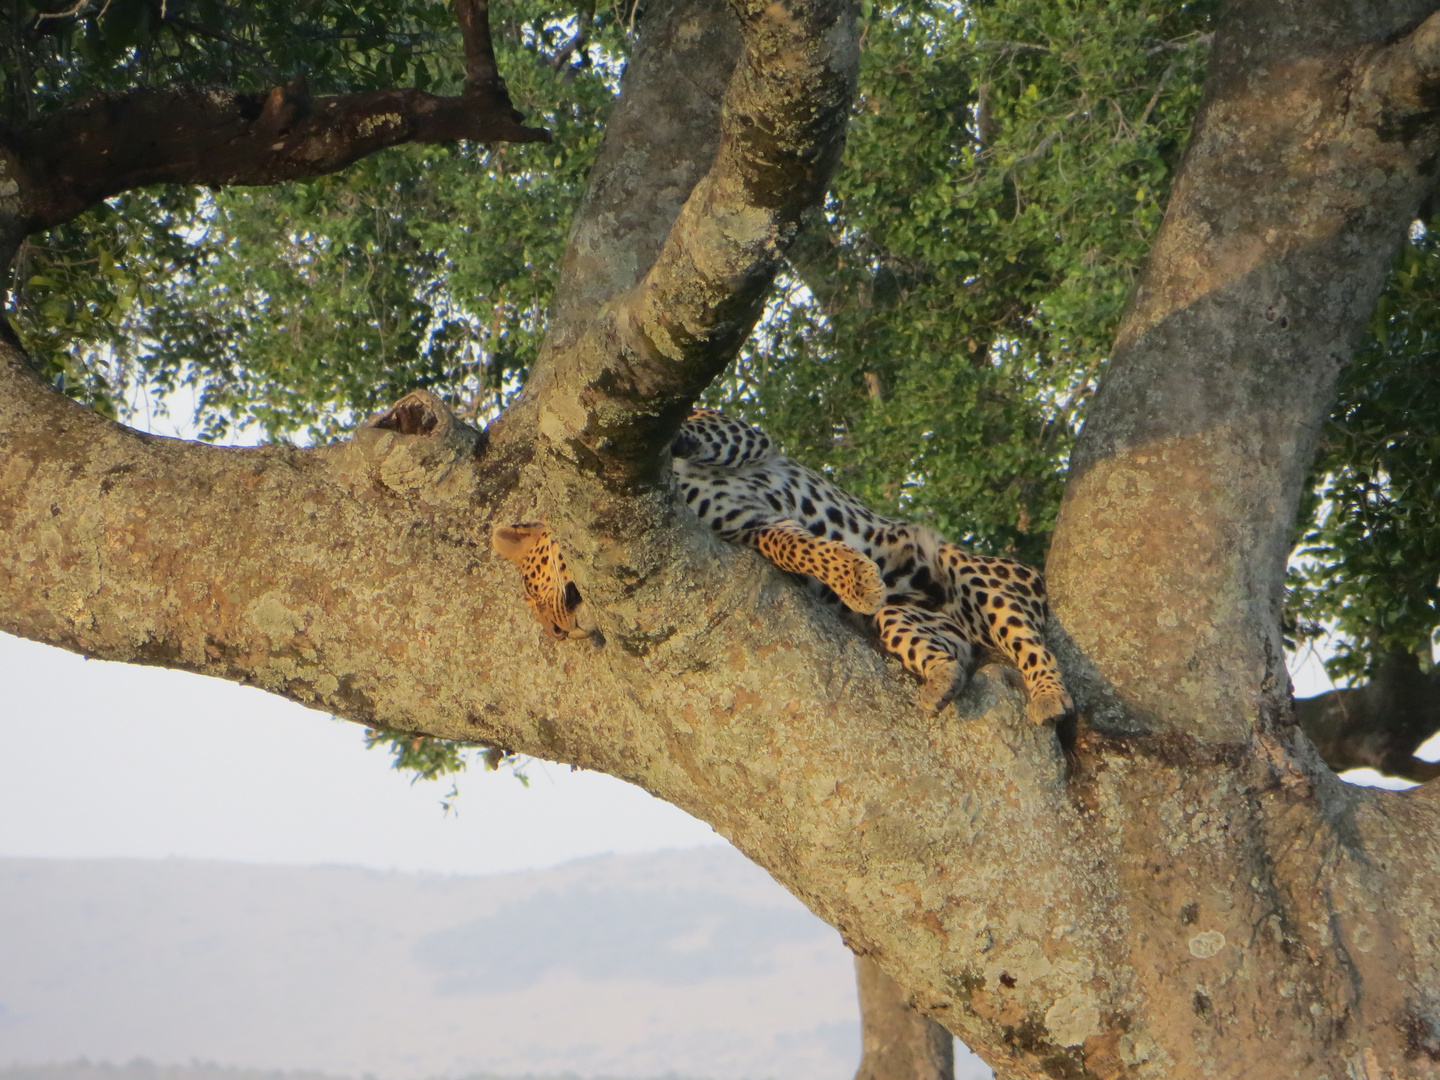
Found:
[[1433, 6], [1384, 10], [1237, 3], [1217, 32], [1050, 556], [1106, 726], [1236, 742], [1287, 723], [1279, 611], [1295, 508], [1336, 373], [1440, 151], [1433, 117], [1395, 130], [1356, 98], [1367, 72], [1420, 40], [1387, 39]]

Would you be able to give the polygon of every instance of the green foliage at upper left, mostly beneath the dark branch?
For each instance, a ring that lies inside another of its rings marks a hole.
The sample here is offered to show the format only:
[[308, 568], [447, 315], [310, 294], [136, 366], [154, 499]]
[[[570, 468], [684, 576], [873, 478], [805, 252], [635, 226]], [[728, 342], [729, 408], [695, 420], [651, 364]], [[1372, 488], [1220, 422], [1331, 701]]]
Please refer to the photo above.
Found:
[[[462, 49], [441, 7], [444, 20], [389, 0], [317, 32], [305, 56], [328, 66], [323, 78], [310, 68], [311, 88], [384, 84], [376, 58], [403, 55], [425, 60], [435, 89], [458, 89]], [[330, 6], [311, 9], [320, 17]], [[406, 13], [419, 29], [405, 29]], [[125, 196], [29, 246], [14, 307], [32, 354], [111, 413], [189, 387], [212, 439], [258, 428], [325, 441], [416, 386], [475, 419], [492, 415], [539, 348], [624, 55], [615, 10], [520, 0], [492, 17], [511, 95], [553, 144], [400, 147], [304, 184]], [[557, 68], [580, 19], [588, 40]], [[390, 37], [377, 37], [386, 26]], [[327, 45], [336, 35], [359, 45], [341, 56]], [[402, 37], [428, 52], [405, 52]], [[361, 45], [369, 66], [356, 59]]]

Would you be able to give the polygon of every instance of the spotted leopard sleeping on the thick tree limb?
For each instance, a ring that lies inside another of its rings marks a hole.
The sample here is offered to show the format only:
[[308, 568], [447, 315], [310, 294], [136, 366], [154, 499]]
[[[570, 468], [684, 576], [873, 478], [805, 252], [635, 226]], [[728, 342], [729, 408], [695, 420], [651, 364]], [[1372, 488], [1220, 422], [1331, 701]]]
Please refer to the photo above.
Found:
[[[1032, 721], [1073, 710], [1041, 635], [1048, 611], [1038, 572], [881, 517], [778, 454], [765, 432], [711, 409], [690, 415], [671, 455], [685, 504], [724, 540], [755, 547], [851, 611], [874, 616], [884, 647], [920, 677], [923, 708], [953, 700], [976, 651], [991, 649], [1020, 668]], [[518, 566], [526, 603], [552, 636], [589, 635], [580, 625], [580, 592], [544, 524], [503, 526], [491, 543]]]

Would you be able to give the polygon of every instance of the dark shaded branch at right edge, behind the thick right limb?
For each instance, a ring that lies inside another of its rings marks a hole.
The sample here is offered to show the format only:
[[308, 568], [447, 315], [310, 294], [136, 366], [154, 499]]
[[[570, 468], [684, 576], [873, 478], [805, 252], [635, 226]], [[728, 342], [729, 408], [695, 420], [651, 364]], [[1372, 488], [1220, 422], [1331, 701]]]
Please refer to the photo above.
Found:
[[1362, 687], [1296, 700], [1295, 719], [1336, 772], [1369, 768], [1417, 783], [1440, 776], [1440, 762], [1414, 756], [1440, 732], [1440, 668], [1423, 672], [1414, 654], [1391, 654]]

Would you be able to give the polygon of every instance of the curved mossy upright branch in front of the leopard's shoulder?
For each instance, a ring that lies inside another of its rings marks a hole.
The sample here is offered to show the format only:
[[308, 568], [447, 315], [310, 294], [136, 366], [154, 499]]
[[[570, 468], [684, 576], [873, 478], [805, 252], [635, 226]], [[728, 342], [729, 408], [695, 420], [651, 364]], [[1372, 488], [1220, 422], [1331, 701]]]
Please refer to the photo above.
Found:
[[585, 340], [550, 354], [537, 380], [550, 446], [618, 490], [662, 477], [661, 451], [753, 327], [844, 145], [855, 6], [734, 10], [744, 52], [726, 89], [714, 164], [644, 279], [609, 302]]

